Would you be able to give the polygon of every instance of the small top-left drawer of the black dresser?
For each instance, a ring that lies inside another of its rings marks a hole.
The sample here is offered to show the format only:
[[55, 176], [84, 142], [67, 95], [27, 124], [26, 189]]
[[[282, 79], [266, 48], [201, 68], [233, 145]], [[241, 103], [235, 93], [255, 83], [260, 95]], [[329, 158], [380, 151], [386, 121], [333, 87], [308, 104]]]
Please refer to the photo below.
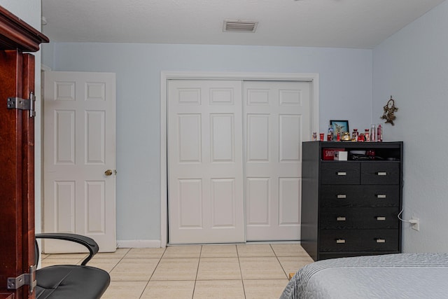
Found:
[[356, 162], [322, 162], [321, 183], [359, 184], [360, 165]]

